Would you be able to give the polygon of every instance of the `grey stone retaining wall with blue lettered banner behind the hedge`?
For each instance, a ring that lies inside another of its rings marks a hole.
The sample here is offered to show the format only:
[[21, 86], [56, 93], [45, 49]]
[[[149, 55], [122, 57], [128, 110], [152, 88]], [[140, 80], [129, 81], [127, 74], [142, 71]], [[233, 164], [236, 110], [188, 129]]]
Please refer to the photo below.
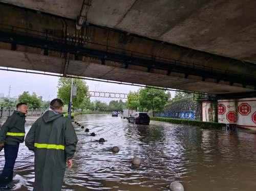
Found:
[[[152, 113], [151, 116], [153, 116]], [[178, 100], [176, 103], [167, 105], [164, 113], [155, 113], [155, 117], [202, 121], [201, 102], [194, 101], [193, 98]]]

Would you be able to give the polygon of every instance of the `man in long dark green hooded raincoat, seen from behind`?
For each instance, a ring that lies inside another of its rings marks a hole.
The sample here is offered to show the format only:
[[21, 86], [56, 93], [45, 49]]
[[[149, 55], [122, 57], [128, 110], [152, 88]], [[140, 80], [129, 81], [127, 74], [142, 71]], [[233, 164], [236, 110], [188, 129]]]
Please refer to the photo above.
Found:
[[32, 125], [25, 144], [35, 152], [34, 191], [60, 191], [66, 169], [73, 165], [77, 137], [72, 123], [62, 112], [60, 99], [51, 101], [49, 111]]

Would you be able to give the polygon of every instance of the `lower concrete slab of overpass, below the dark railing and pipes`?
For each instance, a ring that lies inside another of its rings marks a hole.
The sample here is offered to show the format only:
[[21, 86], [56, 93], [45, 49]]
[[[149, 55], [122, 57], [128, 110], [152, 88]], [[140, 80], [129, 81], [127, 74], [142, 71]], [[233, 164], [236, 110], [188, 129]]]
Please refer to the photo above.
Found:
[[[31, 49], [33, 48], [30, 48], [30, 51], [32, 51]], [[44, 53], [44, 50], [34, 51]], [[52, 54], [60, 53], [52, 52]], [[56, 74], [63, 73], [66, 63], [65, 58], [56, 58], [2, 49], [0, 49], [0, 58], [0, 65], [4, 67], [46, 71]], [[182, 74], [179, 73], [166, 76], [162, 74], [146, 73], [146, 67], [130, 66], [130, 68], [125, 68], [125, 64], [115, 63], [112, 61], [105, 61], [105, 64], [102, 65], [100, 60], [88, 57], [83, 57], [82, 60], [87, 61], [69, 60], [67, 75], [215, 94], [253, 91], [249, 88], [224, 85], [225, 82], [222, 82], [223, 84], [216, 84], [207, 81], [203, 82], [196, 80], [196, 76], [185, 79], [179, 77], [182, 76]]]

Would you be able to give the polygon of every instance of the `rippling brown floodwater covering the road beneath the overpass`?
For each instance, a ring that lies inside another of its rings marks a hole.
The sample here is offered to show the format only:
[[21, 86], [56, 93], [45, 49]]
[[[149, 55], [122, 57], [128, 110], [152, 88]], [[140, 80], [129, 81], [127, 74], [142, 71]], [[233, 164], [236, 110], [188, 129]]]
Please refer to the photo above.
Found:
[[[185, 191], [255, 190], [256, 134], [228, 132], [163, 122], [150, 126], [130, 124], [106, 114], [80, 115], [75, 125], [77, 152], [66, 170], [62, 190], [168, 190], [180, 181]], [[26, 131], [33, 121], [28, 121]], [[95, 132], [96, 136], [89, 136]], [[96, 140], [107, 140], [99, 144]], [[119, 153], [110, 148], [118, 146]], [[15, 164], [14, 190], [32, 190], [33, 152], [20, 145]], [[142, 158], [138, 167], [131, 165]], [[4, 152], [0, 153], [0, 169]]]

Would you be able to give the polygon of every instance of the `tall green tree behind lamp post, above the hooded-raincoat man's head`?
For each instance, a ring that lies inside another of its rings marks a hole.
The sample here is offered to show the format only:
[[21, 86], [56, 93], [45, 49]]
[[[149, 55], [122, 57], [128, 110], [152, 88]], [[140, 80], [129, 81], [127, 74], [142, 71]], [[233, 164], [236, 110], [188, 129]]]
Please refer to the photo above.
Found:
[[[64, 105], [69, 105], [70, 103], [71, 81], [71, 78], [59, 78], [58, 81], [57, 97], [62, 100]], [[79, 109], [84, 99], [89, 97], [88, 86], [86, 85], [86, 81], [81, 79], [74, 79], [73, 85], [77, 86], [76, 98], [72, 99], [73, 108]]]

